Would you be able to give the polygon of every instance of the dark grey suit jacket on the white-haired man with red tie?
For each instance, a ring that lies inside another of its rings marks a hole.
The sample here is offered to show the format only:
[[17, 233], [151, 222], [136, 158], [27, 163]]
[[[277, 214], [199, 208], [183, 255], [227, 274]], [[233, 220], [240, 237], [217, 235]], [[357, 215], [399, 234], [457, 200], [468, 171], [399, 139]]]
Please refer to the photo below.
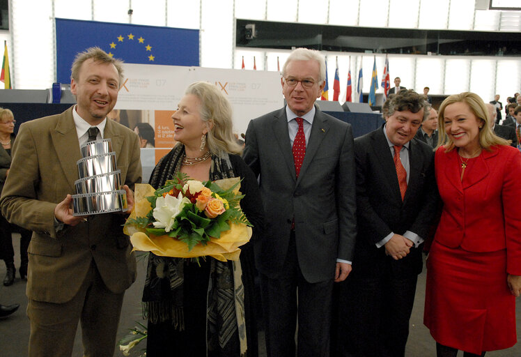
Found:
[[277, 278], [288, 251], [291, 221], [302, 275], [334, 278], [336, 259], [351, 261], [355, 245], [355, 160], [352, 128], [316, 107], [300, 175], [288, 134], [286, 108], [249, 123], [244, 161], [260, 177], [266, 229], [254, 241], [258, 270]]

